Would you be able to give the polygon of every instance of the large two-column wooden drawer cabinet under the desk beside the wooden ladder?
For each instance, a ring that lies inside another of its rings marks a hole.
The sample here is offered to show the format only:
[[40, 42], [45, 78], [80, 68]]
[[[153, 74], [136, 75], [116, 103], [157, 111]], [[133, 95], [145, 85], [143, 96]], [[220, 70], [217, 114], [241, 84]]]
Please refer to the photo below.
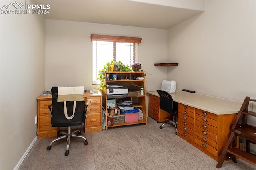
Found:
[[218, 161], [235, 116], [216, 115], [178, 103], [178, 136]]

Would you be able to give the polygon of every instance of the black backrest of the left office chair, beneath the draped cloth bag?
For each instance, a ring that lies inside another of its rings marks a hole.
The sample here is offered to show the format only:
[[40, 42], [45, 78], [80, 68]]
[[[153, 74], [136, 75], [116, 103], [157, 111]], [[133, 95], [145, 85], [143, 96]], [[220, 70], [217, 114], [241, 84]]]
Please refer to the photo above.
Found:
[[[52, 87], [52, 127], [69, 127], [82, 125], [84, 120], [83, 101], [76, 101], [74, 117], [68, 120], [64, 114], [64, 102], [58, 101], [58, 87]], [[73, 115], [74, 101], [67, 101], [68, 117]]]

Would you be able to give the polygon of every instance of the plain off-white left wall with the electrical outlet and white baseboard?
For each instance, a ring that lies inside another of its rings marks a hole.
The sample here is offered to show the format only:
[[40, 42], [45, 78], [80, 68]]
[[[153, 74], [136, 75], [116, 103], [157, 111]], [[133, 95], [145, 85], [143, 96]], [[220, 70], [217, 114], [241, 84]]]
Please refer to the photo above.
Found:
[[2, 170], [14, 169], [36, 138], [36, 97], [45, 89], [44, 38], [44, 18], [36, 14], [1, 14]]

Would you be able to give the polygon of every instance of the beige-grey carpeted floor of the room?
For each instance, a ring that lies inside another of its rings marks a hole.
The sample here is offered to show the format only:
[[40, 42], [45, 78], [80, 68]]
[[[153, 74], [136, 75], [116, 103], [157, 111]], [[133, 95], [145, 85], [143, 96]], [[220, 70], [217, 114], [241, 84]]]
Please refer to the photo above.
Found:
[[[19, 170], [216, 170], [217, 162], [175, 135], [175, 128], [163, 129], [148, 117], [144, 124], [111, 127], [102, 132], [88, 133], [88, 145], [71, 138], [70, 154], [65, 141], [46, 150], [52, 138], [38, 139]], [[83, 134], [83, 133], [82, 133]], [[241, 159], [226, 161], [221, 170], [256, 170]]]

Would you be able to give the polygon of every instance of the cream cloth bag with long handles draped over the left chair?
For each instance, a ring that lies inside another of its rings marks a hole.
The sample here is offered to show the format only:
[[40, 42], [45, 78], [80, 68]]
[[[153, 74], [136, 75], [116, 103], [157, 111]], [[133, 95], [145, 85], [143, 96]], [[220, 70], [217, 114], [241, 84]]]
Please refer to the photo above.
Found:
[[[64, 114], [68, 120], [72, 119], [76, 110], [76, 101], [83, 101], [84, 86], [76, 87], [58, 87], [57, 102], [64, 102]], [[73, 115], [68, 117], [67, 101], [74, 101]]]

